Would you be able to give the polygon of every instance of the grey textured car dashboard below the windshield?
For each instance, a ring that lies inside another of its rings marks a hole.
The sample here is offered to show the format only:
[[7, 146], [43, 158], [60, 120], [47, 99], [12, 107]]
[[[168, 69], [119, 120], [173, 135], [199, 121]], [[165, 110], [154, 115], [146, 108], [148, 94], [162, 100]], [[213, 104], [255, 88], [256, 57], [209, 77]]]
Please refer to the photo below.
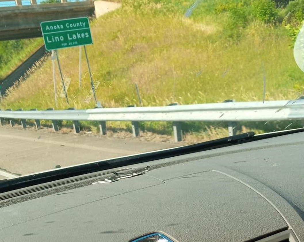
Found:
[[304, 241], [303, 148], [301, 132], [0, 193], [1, 241]]

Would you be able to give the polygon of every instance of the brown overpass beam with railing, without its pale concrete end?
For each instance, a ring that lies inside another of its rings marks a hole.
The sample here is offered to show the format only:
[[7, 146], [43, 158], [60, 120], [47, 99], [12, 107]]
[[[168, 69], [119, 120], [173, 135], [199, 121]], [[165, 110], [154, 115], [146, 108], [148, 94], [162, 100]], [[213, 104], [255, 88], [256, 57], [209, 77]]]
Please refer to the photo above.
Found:
[[[12, 0], [0, 0], [1, 2]], [[14, 1], [14, 0], [13, 0]], [[37, 4], [29, 0], [31, 5], [22, 5], [22, 0], [15, 0], [16, 6], [0, 7], [0, 41], [11, 39], [29, 39], [42, 37], [40, 22], [78, 17], [95, 17], [95, 2]], [[99, 2], [99, 1], [97, 1]]]

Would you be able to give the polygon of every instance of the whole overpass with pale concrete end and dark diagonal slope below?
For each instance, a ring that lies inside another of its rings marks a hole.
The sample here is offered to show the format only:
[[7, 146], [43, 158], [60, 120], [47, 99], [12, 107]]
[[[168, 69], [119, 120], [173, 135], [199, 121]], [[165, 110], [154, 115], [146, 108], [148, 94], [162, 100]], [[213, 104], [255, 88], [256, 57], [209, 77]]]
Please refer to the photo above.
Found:
[[[0, 0], [0, 6], [5, 1], [13, 2], [14, 0]], [[101, 0], [84, 2], [64, 2], [66, 0], [61, 0], [61, 3], [38, 5], [36, 0], [29, 0], [31, 5], [22, 5], [21, 1], [15, 0], [16, 6], [0, 7], [0, 41], [42, 37], [40, 22], [84, 16], [97, 18], [121, 6], [121, 4], [116, 2]], [[9, 76], [4, 80], [0, 80], [1, 94], [5, 95], [5, 91], [12, 87], [45, 52], [43, 45]]]

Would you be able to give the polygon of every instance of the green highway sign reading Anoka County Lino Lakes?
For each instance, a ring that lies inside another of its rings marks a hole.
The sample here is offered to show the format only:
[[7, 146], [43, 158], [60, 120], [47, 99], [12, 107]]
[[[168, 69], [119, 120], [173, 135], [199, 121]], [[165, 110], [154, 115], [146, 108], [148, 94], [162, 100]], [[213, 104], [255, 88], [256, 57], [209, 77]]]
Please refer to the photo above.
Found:
[[40, 27], [47, 50], [93, 43], [87, 17], [41, 22]]

